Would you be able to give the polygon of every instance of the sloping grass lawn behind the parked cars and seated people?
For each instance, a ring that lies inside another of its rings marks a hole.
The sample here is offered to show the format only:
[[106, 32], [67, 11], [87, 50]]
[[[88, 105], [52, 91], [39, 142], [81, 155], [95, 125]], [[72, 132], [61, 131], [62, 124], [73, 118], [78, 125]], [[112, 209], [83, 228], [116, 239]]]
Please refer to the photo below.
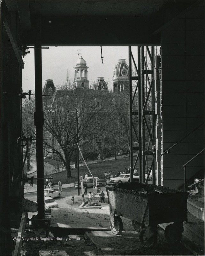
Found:
[[[134, 159], [135, 160], [135, 159]], [[134, 164], [134, 163], [133, 163]], [[151, 158], [148, 159], [148, 166], [151, 164]], [[119, 158], [118, 160], [102, 161], [96, 164], [88, 165], [93, 176], [103, 178], [105, 172], [112, 171], [113, 175], [117, 174], [118, 171], [124, 171], [130, 165], [129, 157]], [[139, 168], [139, 161], [137, 163], [137, 169]], [[85, 173], [88, 172], [86, 166], [80, 167], [80, 176], [85, 177]], [[77, 181], [77, 169], [71, 169], [71, 182]], [[70, 179], [67, 178], [67, 172], [59, 172], [52, 175], [53, 182], [57, 183], [60, 179], [62, 183], [70, 183]]]

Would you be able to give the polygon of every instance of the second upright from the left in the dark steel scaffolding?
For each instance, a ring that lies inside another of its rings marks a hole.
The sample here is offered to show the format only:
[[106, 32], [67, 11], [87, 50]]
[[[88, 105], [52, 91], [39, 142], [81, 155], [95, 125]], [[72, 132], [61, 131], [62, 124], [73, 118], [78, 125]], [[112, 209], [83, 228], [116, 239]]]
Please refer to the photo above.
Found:
[[138, 127], [139, 127], [139, 168], [140, 168], [140, 183], [142, 183], [142, 106], [141, 106], [141, 59], [140, 59], [140, 46], [137, 47], [137, 60], [138, 60]]

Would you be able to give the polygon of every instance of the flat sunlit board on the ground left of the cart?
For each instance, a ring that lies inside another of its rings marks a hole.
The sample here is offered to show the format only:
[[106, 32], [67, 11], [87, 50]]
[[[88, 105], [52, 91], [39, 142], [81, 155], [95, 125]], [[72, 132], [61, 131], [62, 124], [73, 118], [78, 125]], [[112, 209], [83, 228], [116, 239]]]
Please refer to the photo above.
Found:
[[109, 209], [53, 208], [51, 209], [50, 227], [110, 230], [109, 221]]

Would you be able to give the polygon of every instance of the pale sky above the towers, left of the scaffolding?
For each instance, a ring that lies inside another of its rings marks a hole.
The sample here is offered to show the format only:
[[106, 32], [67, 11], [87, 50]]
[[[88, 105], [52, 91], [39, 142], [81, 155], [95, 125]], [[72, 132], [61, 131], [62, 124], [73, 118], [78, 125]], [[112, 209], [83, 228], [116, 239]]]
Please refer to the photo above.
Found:
[[[133, 47], [134, 48], [134, 47]], [[125, 59], [128, 62], [127, 46], [103, 46], [103, 62], [101, 61], [100, 46], [69, 46], [69, 47], [49, 47], [42, 50], [42, 84], [44, 86], [46, 79], [53, 79], [54, 85], [63, 84], [67, 71], [73, 80], [74, 66], [78, 60], [78, 49], [81, 49], [82, 58], [87, 62], [89, 85], [94, 82], [98, 76], [104, 76], [111, 82], [115, 65], [119, 59]], [[24, 69], [22, 69], [23, 92], [35, 90], [34, 78], [34, 49], [24, 57]]]

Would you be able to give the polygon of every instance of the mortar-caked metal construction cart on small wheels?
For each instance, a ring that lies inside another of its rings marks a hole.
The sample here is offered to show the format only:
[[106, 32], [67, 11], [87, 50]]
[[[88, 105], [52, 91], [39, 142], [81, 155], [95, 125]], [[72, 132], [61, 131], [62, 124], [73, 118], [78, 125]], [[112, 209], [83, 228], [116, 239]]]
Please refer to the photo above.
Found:
[[140, 231], [142, 246], [153, 247], [157, 243], [157, 225], [173, 222], [165, 228], [165, 238], [171, 244], [180, 242], [183, 221], [187, 220], [188, 192], [138, 182], [111, 183], [105, 188], [114, 234], [123, 231], [122, 216], [132, 220], [133, 228]]

